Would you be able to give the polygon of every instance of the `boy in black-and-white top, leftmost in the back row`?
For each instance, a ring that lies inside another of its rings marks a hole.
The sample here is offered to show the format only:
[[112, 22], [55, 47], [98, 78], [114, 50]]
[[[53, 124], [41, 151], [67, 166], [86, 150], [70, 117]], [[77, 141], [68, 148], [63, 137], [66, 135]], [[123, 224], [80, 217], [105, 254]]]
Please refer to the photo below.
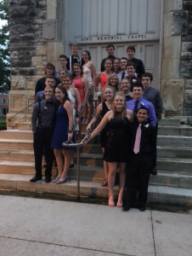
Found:
[[78, 55], [78, 52], [79, 52], [78, 44], [72, 44], [71, 45], [72, 55], [69, 58], [67, 58], [67, 64], [66, 64], [66, 68], [68, 70], [70, 70], [71, 72], [72, 72], [73, 64], [78, 63], [81, 66], [83, 66], [85, 64], [85, 61], [83, 61], [82, 58]]

